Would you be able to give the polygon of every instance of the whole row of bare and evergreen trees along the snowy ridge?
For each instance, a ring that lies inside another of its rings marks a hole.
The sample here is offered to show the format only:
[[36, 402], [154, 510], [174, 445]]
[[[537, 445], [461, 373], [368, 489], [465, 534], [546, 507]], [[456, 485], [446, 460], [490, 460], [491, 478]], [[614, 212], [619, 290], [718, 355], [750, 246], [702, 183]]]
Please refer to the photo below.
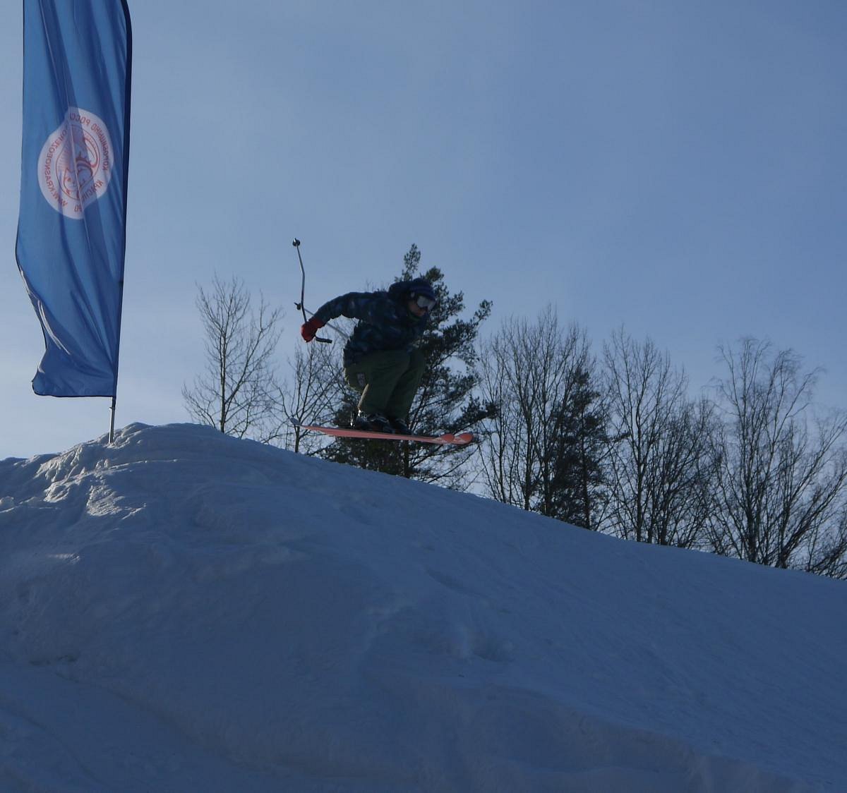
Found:
[[420, 259], [412, 245], [399, 278], [423, 275], [440, 302], [423, 340], [429, 369], [412, 427], [472, 429], [479, 443], [440, 449], [303, 432], [292, 419], [350, 422], [358, 394], [342, 376], [343, 339], [298, 346], [280, 372], [281, 313], [263, 298], [254, 309], [237, 278], [199, 290], [206, 363], [183, 390], [191, 416], [625, 539], [847, 578], [847, 414], [817, 410], [818, 372], [804, 372], [799, 355], [757, 339], [721, 347], [721, 371], [694, 398], [684, 370], [624, 328], [595, 350], [583, 328], [547, 307], [483, 336], [490, 303], [468, 319], [464, 296], [438, 268], [422, 272]]

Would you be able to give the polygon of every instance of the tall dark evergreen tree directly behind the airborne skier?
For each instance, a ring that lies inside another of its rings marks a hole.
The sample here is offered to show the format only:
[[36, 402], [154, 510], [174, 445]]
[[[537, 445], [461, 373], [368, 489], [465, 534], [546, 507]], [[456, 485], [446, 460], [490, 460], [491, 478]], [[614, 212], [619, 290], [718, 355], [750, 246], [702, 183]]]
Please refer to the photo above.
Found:
[[[462, 319], [464, 295], [450, 293], [438, 267], [430, 267], [422, 273], [420, 262], [418, 246], [412, 245], [403, 257], [401, 275], [396, 278], [397, 281], [426, 278], [438, 295], [438, 305], [432, 311], [429, 328], [420, 342], [427, 369], [412, 403], [409, 425], [412, 432], [419, 435], [473, 430], [490, 415], [490, 409], [473, 397], [476, 386], [473, 365], [479, 326], [489, 316], [491, 304], [483, 300], [473, 317]], [[336, 412], [337, 426], [349, 427], [358, 399], [357, 392], [346, 390]], [[473, 454], [473, 446], [445, 448], [424, 443], [339, 439], [321, 454], [327, 460], [371, 471], [462, 487], [464, 463]]]

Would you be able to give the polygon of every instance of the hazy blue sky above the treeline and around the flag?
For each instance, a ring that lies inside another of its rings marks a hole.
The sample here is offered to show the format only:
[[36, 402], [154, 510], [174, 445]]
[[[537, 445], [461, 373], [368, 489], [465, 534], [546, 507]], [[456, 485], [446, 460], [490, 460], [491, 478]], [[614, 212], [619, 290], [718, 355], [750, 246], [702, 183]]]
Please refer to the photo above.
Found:
[[[32, 394], [14, 262], [21, 9], [6, 3], [0, 458], [108, 430]], [[385, 284], [416, 243], [488, 331], [550, 302], [595, 350], [624, 324], [695, 388], [719, 342], [793, 347], [847, 407], [847, 5], [836, 0], [130, 0], [119, 426], [185, 421], [194, 299], [238, 274], [285, 307]]]

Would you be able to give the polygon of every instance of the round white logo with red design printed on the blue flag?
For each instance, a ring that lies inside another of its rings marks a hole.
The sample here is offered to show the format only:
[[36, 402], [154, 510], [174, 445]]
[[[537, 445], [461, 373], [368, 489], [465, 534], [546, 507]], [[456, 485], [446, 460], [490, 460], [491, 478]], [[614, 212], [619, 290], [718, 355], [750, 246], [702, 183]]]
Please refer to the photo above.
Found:
[[65, 218], [81, 220], [86, 207], [108, 189], [112, 152], [102, 118], [69, 107], [38, 157], [38, 184], [47, 203]]

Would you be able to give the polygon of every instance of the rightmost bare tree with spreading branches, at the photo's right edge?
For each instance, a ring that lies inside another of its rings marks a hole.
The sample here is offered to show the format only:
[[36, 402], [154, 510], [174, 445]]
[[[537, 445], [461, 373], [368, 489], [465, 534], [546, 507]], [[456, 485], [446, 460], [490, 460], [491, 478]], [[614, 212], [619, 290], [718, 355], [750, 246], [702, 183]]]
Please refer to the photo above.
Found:
[[714, 440], [712, 548], [775, 567], [838, 570], [847, 415], [809, 429], [817, 372], [800, 372], [792, 350], [742, 339], [738, 350], [720, 351], [728, 373], [717, 387], [725, 421]]

